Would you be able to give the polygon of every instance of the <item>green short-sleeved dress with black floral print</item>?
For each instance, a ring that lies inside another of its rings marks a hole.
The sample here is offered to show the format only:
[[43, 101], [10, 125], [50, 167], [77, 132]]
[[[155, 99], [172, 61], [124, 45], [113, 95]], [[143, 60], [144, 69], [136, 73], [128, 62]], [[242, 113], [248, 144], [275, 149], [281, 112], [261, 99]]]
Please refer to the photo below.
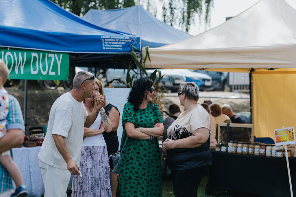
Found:
[[[157, 138], [139, 140], [128, 137], [124, 124], [131, 122], [137, 127], [152, 128], [163, 123], [157, 105], [148, 103], [147, 108], [134, 111], [133, 104], [126, 103], [122, 113], [122, 138], [120, 149], [123, 153], [119, 162], [120, 196], [162, 196], [162, 172], [160, 150]], [[124, 141], [126, 145], [124, 147]]]

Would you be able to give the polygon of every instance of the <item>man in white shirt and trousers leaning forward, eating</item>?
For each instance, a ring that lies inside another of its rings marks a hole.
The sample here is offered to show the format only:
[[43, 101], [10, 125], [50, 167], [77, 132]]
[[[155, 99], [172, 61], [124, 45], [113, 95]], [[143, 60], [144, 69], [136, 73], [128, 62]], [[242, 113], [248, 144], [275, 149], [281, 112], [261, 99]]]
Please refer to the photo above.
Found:
[[104, 105], [104, 97], [95, 99], [95, 110], [88, 114], [83, 100], [94, 91], [94, 76], [80, 71], [73, 79], [73, 89], [52, 105], [47, 133], [38, 154], [44, 183], [44, 197], [67, 196], [71, 174], [79, 175], [78, 165], [83, 141], [83, 127], [95, 121]]

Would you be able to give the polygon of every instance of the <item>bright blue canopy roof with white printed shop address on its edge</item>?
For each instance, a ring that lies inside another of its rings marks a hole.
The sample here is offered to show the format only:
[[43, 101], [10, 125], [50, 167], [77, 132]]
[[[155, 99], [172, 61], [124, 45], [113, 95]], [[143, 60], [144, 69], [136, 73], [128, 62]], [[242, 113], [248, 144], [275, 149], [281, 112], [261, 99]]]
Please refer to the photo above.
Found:
[[0, 38], [2, 47], [67, 53], [129, 53], [131, 44], [139, 43], [137, 37], [93, 25], [49, 0], [0, 1]]

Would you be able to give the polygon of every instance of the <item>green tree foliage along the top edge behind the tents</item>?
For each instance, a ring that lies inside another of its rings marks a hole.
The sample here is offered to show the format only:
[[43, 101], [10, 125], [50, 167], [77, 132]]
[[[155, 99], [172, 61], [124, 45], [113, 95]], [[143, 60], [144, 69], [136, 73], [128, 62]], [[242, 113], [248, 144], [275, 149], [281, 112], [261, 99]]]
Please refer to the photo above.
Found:
[[[137, 4], [145, 5], [149, 12], [156, 16], [156, 10], [149, 10], [151, 4], [149, 0], [51, 0], [62, 8], [78, 15], [83, 16], [90, 9], [118, 9], [134, 6]], [[158, 0], [154, 0], [158, 1]], [[196, 15], [201, 18], [204, 12], [205, 22], [210, 19], [210, 9], [214, 0], [159, 0], [162, 5], [163, 21], [172, 26], [181, 27], [188, 32], [189, 27]]]

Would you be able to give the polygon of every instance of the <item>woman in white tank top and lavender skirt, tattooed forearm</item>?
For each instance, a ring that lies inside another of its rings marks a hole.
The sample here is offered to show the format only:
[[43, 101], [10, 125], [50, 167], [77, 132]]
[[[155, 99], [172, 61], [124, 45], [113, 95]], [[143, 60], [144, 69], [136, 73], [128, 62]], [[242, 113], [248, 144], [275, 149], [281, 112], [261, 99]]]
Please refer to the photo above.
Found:
[[[88, 113], [94, 110], [94, 98], [96, 93], [104, 96], [104, 90], [99, 79], [95, 78], [92, 98], [84, 100], [84, 105]], [[102, 111], [103, 110], [103, 111]], [[84, 128], [85, 139], [82, 143], [81, 157], [79, 162], [79, 175], [73, 175], [72, 196], [102, 196], [111, 197], [110, 168], [108, 160], [107, 146], [102, 133], [110, 132], [112, 123], [100, 110], [96, 120], [89, 128]]]

